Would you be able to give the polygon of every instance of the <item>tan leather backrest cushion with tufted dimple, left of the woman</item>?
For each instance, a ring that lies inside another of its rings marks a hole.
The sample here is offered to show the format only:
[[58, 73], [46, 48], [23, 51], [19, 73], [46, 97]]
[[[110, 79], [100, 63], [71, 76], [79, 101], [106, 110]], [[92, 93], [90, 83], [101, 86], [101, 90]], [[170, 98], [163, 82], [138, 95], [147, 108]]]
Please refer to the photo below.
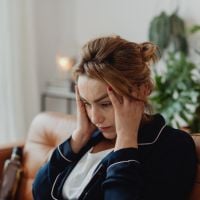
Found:
[[24, 146], [23, 169], [18, 200], [32, 200], [32, 183], [38, 169], [48, 160], [56, 146], [76, 127], [75, 116], [41, 113], [33, 120]]

